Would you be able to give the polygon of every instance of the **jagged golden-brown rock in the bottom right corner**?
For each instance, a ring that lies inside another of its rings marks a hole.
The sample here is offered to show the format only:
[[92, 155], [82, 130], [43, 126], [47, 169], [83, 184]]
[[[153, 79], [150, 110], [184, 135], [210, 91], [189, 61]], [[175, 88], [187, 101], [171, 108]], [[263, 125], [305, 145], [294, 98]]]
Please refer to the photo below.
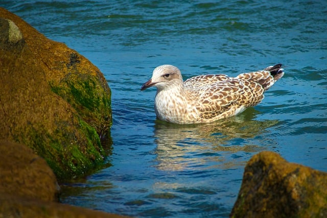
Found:
[[230, 217], [327, 217], [327, 174], [260, 152], [247, 163]]

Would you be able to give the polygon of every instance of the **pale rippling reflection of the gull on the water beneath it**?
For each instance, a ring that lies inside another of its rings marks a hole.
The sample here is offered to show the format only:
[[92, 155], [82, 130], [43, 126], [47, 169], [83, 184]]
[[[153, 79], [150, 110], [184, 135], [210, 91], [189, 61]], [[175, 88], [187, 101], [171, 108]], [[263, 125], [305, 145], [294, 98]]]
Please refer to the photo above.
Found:
[[238, 116], [196, 125], [176, 125], [156, 120], [156, 167], [181, 171], [199, 164], [206, 165], [203, 161], [215, 162], [216, 165], [221, 163], [219, 167], [222, 168], [239, 165], [240, 162], [233, 158], [239, 153], [259, 152], [275, 143], [269, 138], [268, 128], [279, 121], [255, 120], [255, 113], [253, 108], [249, 108]]

